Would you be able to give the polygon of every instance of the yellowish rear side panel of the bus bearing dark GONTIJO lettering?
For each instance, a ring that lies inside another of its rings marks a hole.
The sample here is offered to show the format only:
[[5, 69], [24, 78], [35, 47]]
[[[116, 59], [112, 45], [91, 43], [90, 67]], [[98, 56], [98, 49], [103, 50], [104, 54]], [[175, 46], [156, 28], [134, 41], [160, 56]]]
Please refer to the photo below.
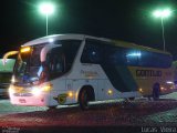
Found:
[[160, 84], [160, 93], [166, 94], [173, 91], [173, 70], [157, 69], [157, 68], [138, 68], [129, 66], [135, 81], [139, 89], [142, 89], [143, 95], [152, 95], [153, 85], [158, 82]]

